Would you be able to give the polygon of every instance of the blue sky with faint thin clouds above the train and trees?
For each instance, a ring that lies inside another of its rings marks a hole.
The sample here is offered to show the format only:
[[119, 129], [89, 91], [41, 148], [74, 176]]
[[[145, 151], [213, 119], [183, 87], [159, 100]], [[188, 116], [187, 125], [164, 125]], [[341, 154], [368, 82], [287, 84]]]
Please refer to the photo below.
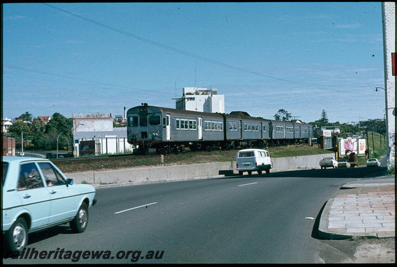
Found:
[[226, 113], [384, 117], [381, 2], [50, 5], [2, 6], [2, 117], [175, 108], [194, 86]]

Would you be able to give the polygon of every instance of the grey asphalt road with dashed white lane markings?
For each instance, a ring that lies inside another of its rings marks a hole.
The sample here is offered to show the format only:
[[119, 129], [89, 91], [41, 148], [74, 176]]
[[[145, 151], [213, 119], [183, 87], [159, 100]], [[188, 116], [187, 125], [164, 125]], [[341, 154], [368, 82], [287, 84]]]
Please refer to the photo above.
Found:
[[322, 208], [342, 194], [341, 185], [380, 170], [314, 169], [100, 188], [84, 233], [61, 225], [31, 234], [27, 248], [54, 251], [49, 259], [3, 262], [335, 263], [353, 250], [346, 245], [346, 252], [333, 252], [334, 245], [319, 239]]

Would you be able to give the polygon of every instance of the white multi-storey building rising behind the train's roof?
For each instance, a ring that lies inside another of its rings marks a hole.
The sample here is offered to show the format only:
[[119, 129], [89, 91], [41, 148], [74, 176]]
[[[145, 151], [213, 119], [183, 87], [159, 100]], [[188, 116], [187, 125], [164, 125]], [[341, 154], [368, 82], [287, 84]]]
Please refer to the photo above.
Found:
[[177, 109], [225, 113], [225, 96], [217, 89], [184, 87], [182, 91], [182, 97], [174, 99]]

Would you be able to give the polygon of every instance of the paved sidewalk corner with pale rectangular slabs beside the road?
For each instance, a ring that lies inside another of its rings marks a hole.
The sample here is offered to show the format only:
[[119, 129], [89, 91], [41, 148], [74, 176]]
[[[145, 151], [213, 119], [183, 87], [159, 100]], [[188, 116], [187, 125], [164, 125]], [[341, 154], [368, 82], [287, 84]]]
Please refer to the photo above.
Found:
[[395, 237], [395, 178], [391, 177], [343, 185], [342, 188], [347, 189], [346, 194], [332, 197], [324, 207], [319, 225], [320, 237]]

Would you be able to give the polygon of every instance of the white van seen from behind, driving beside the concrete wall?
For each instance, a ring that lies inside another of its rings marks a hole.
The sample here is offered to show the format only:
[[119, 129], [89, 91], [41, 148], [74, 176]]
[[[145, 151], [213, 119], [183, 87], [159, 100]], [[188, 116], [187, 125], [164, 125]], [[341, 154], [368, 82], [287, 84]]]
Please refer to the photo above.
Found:
[[237, 152], [236, 170], [239, 175], [243, 175], [244, 171], [251, 175], [253, 170], [258, 171], [258, 174], [262, 174], [263, 170], [269, 173], [272, 167], [273, 163], [270, 161], [270, 154], [267, 150], [243, 149]]

